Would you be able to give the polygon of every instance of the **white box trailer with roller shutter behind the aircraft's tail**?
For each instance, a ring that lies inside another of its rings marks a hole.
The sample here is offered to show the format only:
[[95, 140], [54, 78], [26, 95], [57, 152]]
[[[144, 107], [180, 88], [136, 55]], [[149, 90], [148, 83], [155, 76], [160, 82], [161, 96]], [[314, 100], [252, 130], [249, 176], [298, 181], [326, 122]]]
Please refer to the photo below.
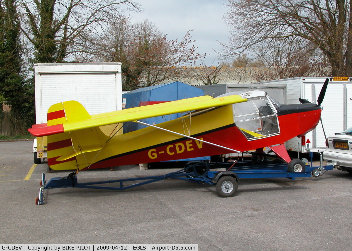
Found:
[[[39, 63], [34, 65], [36, 124], [47, 122], [51, 105], [75, 100], [89, 114], [122, 109], [121, 63]], [[101, 128], [106, 134], [111, 127]], [[34, 163], [46, 158], [46, 137], [34, 140]]]

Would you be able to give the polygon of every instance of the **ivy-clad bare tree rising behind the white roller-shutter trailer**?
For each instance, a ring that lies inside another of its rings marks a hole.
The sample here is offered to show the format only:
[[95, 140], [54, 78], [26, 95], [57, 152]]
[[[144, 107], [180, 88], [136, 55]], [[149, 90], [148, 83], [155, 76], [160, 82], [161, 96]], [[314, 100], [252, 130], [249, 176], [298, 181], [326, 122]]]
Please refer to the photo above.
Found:
[[121, 18], [124, 8], [140, 10], [132, 0], [18, 1], [21, 30], [33, 45], [34, 61], [41, 63], [63, 62], [82, 50], [85, 37], [94, 37], [111, 20]]

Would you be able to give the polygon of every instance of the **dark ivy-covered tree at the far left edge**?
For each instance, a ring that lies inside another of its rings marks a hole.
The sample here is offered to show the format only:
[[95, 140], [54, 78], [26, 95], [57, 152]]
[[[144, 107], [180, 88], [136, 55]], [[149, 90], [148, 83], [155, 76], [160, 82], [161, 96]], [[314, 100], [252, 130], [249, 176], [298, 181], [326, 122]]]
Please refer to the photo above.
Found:
[[14, 0], [0, 0], [0, 108], [5, 99], [11, 106], [11, 134], [25, 135], [34, 123], [34, 85], [23, 71], [16, 8]]

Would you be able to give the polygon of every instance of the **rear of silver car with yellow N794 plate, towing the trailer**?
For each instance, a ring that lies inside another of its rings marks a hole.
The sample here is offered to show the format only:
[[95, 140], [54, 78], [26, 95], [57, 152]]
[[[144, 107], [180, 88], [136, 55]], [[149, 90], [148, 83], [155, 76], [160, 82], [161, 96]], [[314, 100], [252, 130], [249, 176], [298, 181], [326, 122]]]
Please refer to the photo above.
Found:
[[323, 157], [337, 169], [352, 173], [352, 127], [328, 137]]

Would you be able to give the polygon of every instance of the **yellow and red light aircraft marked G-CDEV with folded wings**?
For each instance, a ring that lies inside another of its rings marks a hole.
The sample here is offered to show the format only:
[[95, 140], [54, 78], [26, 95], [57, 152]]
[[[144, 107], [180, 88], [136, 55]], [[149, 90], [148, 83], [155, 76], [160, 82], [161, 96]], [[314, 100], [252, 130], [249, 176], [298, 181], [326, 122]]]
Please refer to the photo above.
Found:
[[[269, 147], [289, 162], [283, 143], [316, 127], [325, 90], [318, 104], [301, 101], [302, 104], [284, 105], [255, 90], [97, 115], [89, 115], [76, 101], [67, 101], [52, 105], [48, 123], [33, 125], [29, 131], [34, 136], [48, 136], [48, 164], [54, 170], [105, 168], [240, 153], [263, 147]], [[139, 121], [180, 112], [187, 113], [157, 125]], [[128, 121], [148, 127], [111, 137], [99, 128]]]

